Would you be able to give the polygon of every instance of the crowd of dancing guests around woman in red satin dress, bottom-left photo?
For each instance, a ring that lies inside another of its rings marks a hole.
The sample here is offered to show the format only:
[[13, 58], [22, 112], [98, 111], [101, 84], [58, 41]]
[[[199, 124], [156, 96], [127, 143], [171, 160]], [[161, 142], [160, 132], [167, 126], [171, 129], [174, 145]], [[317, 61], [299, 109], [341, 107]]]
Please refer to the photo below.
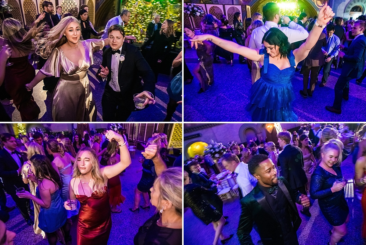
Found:
[[[6, 206], [6, 191], [25, 222], [49, 244], [58, 240], [71, 244], [71, 217], [75, 215], [77, 244], [107, 244], [111, 213], [122, 212], [118, 206], [126, 199], [119, 175], [131, 164], [128, 138], [124, 129], [83, 134], [71, 135], [72, 140], [63, 134], [43, 136], [40, 132], [19, 138], [1, 134], [1, 229], [9, 220], [8, 212], [15, 209]], [[130, 210], [139, 210], [142, 194], [141, 208], [150, 209], [151, 203], [156, 213], [140, 224], [133, 241], [136, 245], [182, 242], [182, 168], [167, 168], [166, 138], [166, 134], [154, 132], [139, 159], [142, 177]], [[3, 239], [0, 244], [5, 244]]]

